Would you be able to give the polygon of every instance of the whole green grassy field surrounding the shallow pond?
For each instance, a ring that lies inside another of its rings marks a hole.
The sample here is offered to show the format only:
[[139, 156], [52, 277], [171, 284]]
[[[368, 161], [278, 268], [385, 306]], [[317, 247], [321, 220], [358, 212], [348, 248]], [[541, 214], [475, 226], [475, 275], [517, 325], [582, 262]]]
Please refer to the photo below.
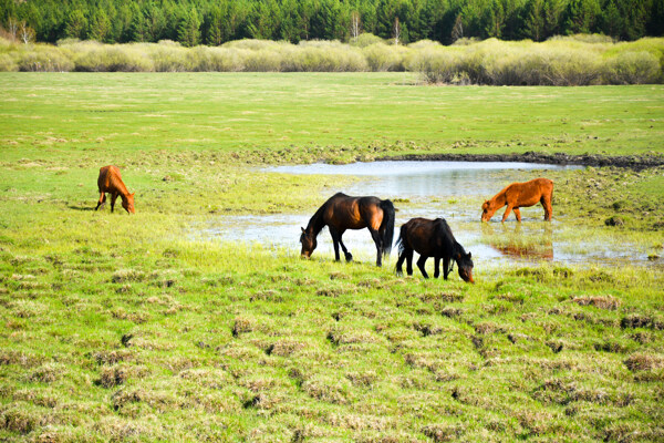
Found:
[[[396, 277], [394, 255], [301, 260], [297, 236], [189, 235], [219, 215], [312, 214], [344, 183], [257, 166], [661, 155], [664, 86], [7, 73], [0, 99], [0, 441], [664, 439], [662, 168], [551, 173], [558, 220], [652, 266], [492, 267], [471, 286]], [[111, 163], [135, 216], [92, 212]]]

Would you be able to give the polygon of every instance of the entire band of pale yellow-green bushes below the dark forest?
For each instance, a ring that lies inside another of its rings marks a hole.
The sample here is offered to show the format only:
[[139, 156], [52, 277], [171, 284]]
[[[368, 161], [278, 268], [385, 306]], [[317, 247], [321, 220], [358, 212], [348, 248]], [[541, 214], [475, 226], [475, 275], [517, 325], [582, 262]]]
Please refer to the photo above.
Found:
[[489, 39], [450, 47], [407, 47], [362, 34], [356, 41], [238, 40], [221, 47], [101, 44], [69, 39], [58, 47], [0, 39], [0, 71], [357, 72], [412, 71], [425, 83], [490, 85], [643, 84], [664, 81], [664, 39], [614, 43], [571, 35], [542, 43]]

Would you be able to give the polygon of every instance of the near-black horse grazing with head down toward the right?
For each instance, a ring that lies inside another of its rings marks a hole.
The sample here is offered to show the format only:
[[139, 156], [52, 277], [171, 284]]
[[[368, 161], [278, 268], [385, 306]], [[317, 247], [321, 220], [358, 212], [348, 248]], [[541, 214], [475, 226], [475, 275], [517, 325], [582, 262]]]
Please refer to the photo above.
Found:
[[464, 247], [454, 238], [452, 229], [444, 218], [436, 218], [435, 220], [411, 218], [408, 223], [402, 226], [396, 245], [398, 245], [397, 275], [402, 275], [404, 260], [406, 260], [406, 271], [409, 276], [413, 275], [413, 251], [415, 250], [419, 254], [417, 267], [424, 278], [428, 278], [424, 265], [429, 257], [434, 257], [435, 278], [440, 275], [439, 266], [440, 259], [443, 259], [443, 278], [447, 280], [447, 276], [452, 271], [449, 261], [454, 259], [459, 269], [459, 277], [464, 281], [475, 282], [473, 279], [471, 254], [466, 254]]

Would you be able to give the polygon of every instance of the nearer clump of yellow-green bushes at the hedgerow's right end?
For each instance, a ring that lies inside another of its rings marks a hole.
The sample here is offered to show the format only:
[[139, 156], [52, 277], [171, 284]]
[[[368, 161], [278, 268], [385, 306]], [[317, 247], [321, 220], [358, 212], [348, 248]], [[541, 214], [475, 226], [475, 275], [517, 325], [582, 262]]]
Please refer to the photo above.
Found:
[[[662, 81], [664, 47], [622, 43], [584, 43], [556, 39], [546, 43], [501, 42], [489, 39], [476, 44], [418, 50], [407, 69], [422, 73], [424, 82], [492, 85], [591, 85], [639, 84]], [[647, 49], [644, 49], [647, 48]]]

